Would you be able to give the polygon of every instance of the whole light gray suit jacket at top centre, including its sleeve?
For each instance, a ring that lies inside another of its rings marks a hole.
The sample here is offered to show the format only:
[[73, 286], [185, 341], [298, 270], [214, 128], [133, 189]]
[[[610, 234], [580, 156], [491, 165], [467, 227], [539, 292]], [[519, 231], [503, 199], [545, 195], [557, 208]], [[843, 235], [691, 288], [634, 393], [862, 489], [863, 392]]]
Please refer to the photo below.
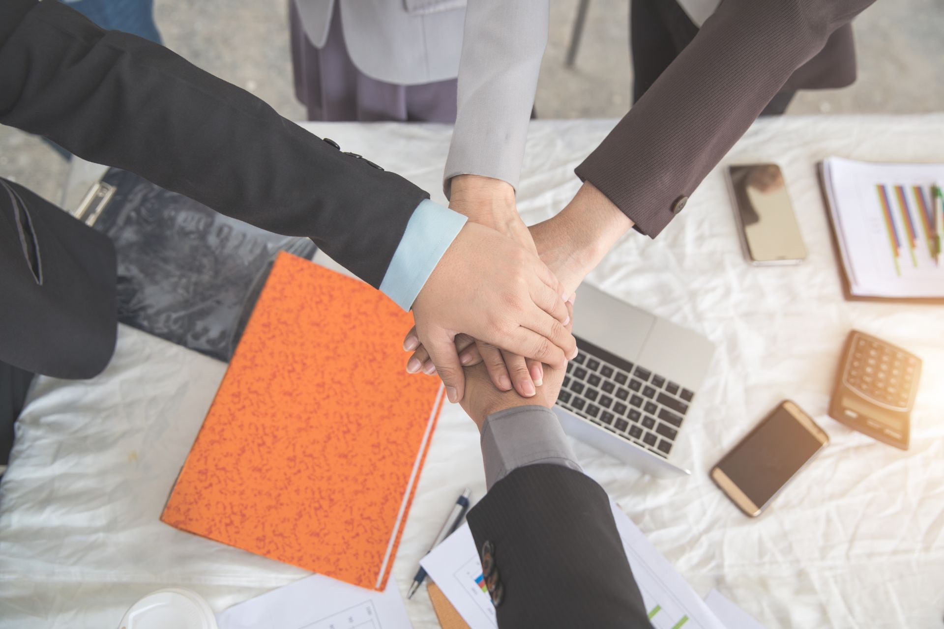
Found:
[[[444, 189], [456, 174], [517, 187], [548, 41], [548, 0], [294, 0], [309, 40], [325, 44], [341, 10], [363, 74], [399, 85], [462, 76]], [[509, 59], [514, 60], [509, 62]]]

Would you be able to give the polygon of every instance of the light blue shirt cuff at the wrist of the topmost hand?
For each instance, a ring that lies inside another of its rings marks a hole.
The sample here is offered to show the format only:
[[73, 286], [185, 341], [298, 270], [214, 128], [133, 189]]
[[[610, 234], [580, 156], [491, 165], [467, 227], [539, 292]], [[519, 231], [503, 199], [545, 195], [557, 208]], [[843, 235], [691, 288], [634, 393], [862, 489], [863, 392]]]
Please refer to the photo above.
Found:
[[448, 207], [424, 200], [407, 223], [380, 290], [409, 311], [430, 273], [468, 219]]

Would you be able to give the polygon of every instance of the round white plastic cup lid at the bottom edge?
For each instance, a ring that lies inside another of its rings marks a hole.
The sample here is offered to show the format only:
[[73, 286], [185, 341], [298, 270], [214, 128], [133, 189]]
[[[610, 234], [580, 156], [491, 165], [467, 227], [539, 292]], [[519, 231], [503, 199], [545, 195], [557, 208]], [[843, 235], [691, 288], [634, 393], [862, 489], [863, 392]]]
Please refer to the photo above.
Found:
[[217, 629], [213, 610], [202, 596], [184, 588], [151, 592], [127, 610], [119, 629]]

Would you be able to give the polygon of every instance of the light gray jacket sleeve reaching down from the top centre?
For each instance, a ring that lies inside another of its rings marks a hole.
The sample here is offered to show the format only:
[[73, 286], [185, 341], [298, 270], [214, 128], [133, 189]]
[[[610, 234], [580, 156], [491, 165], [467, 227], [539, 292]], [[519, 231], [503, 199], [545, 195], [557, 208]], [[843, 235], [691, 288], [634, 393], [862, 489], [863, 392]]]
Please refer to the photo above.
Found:
[[458, 108], [443, 190], [457, 174], [517, 188], [548, 43], [548, 0], [473, 0], [465, 9]]

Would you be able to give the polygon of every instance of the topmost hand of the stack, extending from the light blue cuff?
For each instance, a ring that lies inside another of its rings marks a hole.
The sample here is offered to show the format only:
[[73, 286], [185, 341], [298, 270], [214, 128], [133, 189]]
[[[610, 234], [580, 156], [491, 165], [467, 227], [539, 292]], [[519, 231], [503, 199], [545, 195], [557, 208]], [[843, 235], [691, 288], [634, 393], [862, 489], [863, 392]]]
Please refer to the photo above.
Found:
[[416, 340], [446, 384], [449, 401], [464, 397], [454, 344], [460, 333], [563, 367], [577, 353], [565, 328], [566, 297], [537, 256], [494, 229], [466, 223], [413, 302]]

